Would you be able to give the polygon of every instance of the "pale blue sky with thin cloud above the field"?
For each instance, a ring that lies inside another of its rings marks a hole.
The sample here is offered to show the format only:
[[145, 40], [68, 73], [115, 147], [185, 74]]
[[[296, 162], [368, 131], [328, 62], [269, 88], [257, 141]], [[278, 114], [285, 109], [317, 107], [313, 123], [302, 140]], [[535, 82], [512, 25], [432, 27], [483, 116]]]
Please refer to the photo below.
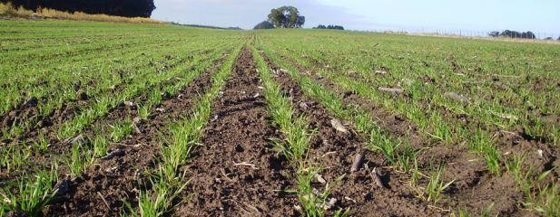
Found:
[[516, 30], [560, 34], [560, 0], [154, 0], [152, 18], [251, 29], [271, 8], [293, 5], [305, 28], [361, 31]]

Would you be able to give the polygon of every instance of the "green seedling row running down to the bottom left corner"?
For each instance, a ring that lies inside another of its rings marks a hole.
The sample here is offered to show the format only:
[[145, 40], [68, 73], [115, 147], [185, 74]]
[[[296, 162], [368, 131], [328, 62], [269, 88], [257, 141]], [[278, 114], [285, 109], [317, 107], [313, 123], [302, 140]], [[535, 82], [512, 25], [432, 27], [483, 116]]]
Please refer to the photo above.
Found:
[[[224, 48], [228, 46], [222, 45], [221, 47]], [[162, 100], [162, 96], [173, 95], [176, 90], [181, 89], [196, 78], [200, 74], [200, 71], [210, 66], [210, 64], [221, 55], [220, 46], [216, 46], [215, 48], [218, 50], [217, 52], [213, 52], [214, 54], [211, 54], [211, 58], [203, 58], [206, 59], [205, 61], [192, 60], [189, 65], [192, 65], [194, 68], [178, 67], [175, 70], [182, 71], [182, 73], [176, 74], [178, 77], [174, 77], [174, 79], [170, 77], [172, 80], [163, 80], [162, 85], [159, 85], [158, 88], [153, 88], [153, 91], [146, 90], [145, 94], [149, 96], [145, 96], [145, 100], [140, 102], [142, 105], [138, 106], [139, 110], [136, 116], [139, 118], [146, 118], [150, 112], [155, 109], [153, 107]], [[189, 72], [185, 73], [186, 71]], [[127, 137], [127, 135], [133, 133], [131, 118], [123, 118], [113, 122], [111, 125], [112, 130], [109, 130], [109, 132], [94, 130], [93, 135], [87, 138], [88, 142], [75, 143], [72, 147], [72, 152], [68, 153], [67, 157], [61, 156], [61, 158], [64, 158], [64, 167], [66, 167], [67, 171], [73, 176], [80, 175], [88, 165], [92, 165], [100, 157], [106, 156], [109, 143], [119, 142], [123, 137]], [[85, 144], [89, 144], [89, 146], [84, 146]], [[53, 189], [58, 175], [57, 172], [60, 171], [60, 169], [57, 170], [56, 167], [56, 164], [51, 166], [52, 172], [50, 173], [48, 169], [41, 170], [35, 175], [34, 179], [22, 178], [18, 182], [22, 184], [19, 188], [6, 191], [7, 193], [5, 193], [5, 195], [7, 196], [5, 196], [5, 201], [12, 203], [6, 205], [4, 210], [18, 210], [30, 214], [41, 212], [45, 203], [48, 203], [50, 198], [52, 198], [58, 190]], [[40, 195], [37, 195], [37, 192], [40, 192]]]

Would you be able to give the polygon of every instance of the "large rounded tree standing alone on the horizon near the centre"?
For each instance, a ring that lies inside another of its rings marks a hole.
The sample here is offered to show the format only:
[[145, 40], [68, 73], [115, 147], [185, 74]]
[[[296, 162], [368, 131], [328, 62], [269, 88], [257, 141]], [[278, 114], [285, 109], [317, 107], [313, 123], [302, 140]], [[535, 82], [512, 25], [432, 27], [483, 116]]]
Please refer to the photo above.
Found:
[[294, 6], [281, 6], [270, 10], [269, 22], [276, 28], [301, 28], [305, 17]]

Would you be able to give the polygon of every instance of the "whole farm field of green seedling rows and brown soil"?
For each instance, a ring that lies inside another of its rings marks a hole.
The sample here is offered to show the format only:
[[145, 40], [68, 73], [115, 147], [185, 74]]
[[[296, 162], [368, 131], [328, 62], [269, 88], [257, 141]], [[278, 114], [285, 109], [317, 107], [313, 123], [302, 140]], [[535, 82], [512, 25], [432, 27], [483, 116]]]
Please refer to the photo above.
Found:
[[560, 46], [0, 20], [0, 216], [560, 216]]

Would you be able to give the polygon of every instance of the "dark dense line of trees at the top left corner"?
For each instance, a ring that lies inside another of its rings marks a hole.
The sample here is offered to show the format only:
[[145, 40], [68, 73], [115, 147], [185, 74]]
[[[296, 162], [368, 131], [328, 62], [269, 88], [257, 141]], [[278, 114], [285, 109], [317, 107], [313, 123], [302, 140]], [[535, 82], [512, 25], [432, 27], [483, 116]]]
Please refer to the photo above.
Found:
[[65, 12], [125, 17], [150, 17], [155, 10], [153, 0], [0, 0], [0, 2], [34, 11], [50, 8]]

